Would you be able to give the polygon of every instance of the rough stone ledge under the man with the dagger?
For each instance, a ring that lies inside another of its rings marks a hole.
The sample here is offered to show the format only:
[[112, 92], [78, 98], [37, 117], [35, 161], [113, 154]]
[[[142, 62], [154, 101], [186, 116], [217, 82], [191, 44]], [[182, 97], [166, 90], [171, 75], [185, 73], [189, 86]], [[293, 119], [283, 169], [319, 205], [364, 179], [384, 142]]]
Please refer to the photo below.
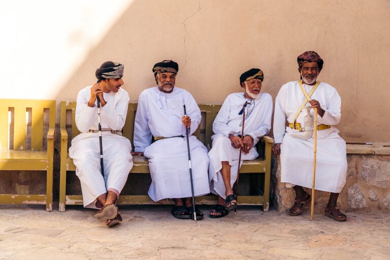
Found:
[[[347, 144], [346, 152], [347, 179], [338, 206], [346, 212], [390, 212], [390, 143]], [[311, 189], [306, 190], [311, 193]], [[294, 199], [294, 189], [280, 182], [279, 156], [273, 155], [271, 206], [287, 211]], [[316, 190], [314, 210], [323, 212], [328, 199], [329, 192]]]

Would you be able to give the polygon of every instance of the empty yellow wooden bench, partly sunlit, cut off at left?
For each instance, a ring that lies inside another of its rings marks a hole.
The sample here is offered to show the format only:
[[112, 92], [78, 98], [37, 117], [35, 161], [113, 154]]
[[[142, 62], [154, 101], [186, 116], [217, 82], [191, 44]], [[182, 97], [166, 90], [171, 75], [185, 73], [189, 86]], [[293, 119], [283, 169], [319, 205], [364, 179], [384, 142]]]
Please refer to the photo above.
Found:
[[[46, 171], [46, 194], [0, 194], [0, 204], [53, 205], [55, 101], [0, 99], [0, 170]], [[21, 185], [22, 186], [22, 185]]]

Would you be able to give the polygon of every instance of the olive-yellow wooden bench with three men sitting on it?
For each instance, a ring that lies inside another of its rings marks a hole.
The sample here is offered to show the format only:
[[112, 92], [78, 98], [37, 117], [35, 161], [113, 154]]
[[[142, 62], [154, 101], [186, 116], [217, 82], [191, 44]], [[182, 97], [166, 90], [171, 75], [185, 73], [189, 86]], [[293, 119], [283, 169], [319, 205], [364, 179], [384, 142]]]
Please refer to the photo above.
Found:
[[[221, 105], [199, 105], [202, 111], [202, 122], [196, 133], [197, 138], [210, 149], [212, 124]], [[123, 136], [129, 139], [133, 144], [134, 120], [137, 111], [137, 103], [129, 103], [126, 122], [123, 127]], [[65, 211], [66, 205], [82, 205], [81, 195], [68, 195], [66, 192], [67, 171], [75, 171], [76, 167], [73, 160], [69, 158], [70, 140], [77, 136], [78, 131], [75, 123], [76, 102], [61, 102], [60, 106], [60, 131], [61, 131], [61, 163], [60, 163], [60, 185], [59, 185], [59, 211]], [[70, 138], [68, 138], [68, 133]], [[244, 161], [240, 173], [264, 173], [263, 194], [258, 196], [240, 196], [238, 203], [240, 205], [262, 205], [264, 211], [269, 209], [270, 196], [270, 179], [271, 179], [271, 147], [273, 139], [263, 137], [258, 143], [259, 158], [251, 161]], [[133, 169], [130, 173], [149, 174], [148, 159], [144, 156], [133, 156]], [[241, 181], [240, 181], [241, 184]], [[239, 191], [241, 190], [241, 186]], [[196, 198], [197, 204], [215, 204], [217, 197], [213, 194]], [[166, 200], [156, 202], [158, 204], [167, 204]], [[125, 195], [121, 194], [118, 198], [118, 204], [135, 205], [135, 204], [156, 204], [147, 195]]]

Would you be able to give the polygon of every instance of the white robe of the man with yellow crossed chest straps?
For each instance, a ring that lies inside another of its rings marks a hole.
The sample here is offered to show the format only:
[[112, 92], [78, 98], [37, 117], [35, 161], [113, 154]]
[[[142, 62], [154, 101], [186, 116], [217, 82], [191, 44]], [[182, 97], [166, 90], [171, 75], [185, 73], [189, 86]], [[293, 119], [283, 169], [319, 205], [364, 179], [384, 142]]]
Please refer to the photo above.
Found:
[[[303, 86], [307, 93], [313, 87], [306, 84]], [[334, 87], [323, 82], [318, 85], [311, 99], [317, 100], [325, 111], [322, 117], [317, 115], [317, 125], [331, 125], [328, 129], [317, 131], [315, 189], [339, 193], [344, 187], [347, 170], [345, 141], [333, 126], [340, 122], [341, 99]], [[275, 143], [281, 143], [281, 182], [286, 182], [286, 187], [312, 186], [314, 138], [300, 140], [291, 137], [290, 133], [298, 130], [285, 126], [285, 120], [294, 122], [304, 100], [298, 81], [291, 81], [280, 88], [275, 101], [274, 137]], [[310, 113], [314, 118], [314, 109]], [[297, 122], [304, 125], [303, 112]]]

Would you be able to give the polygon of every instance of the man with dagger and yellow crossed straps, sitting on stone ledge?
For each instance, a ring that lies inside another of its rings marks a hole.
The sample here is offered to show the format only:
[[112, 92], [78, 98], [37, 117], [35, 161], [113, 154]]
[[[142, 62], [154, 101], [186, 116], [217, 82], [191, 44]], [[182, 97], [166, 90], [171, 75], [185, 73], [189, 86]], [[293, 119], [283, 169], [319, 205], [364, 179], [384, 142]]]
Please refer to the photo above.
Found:
[[[334, 87], [317, 81], [323, 60], [316, 52], [306, 51], [297, 61], [302, 81], [291, 81], [280, 88], [275, 101], [273, 128], [275, 145], [272, 150], [280, 154], [281, 182], [285, 182], [286, 187], [294, 187], [296, 192], [289, 215], [301, 214], [310, 199], [314, 199], [302, 188], [312, 186], [314, 138], [312, 135], [306, 140], [296, 138], [305, 131], [303, 108], [311, 106], [317, 108], [318, 114], [315, 189], [331, 192], [325, 214], [336, 221], [345, 221], [347, 217], [337, 207], [337, 199], [345, 184], [346, 147], [338, 129], [333, 126], [340, 122], [341, 99]], [[314, 109], [310, 114], [313, 117]]]

